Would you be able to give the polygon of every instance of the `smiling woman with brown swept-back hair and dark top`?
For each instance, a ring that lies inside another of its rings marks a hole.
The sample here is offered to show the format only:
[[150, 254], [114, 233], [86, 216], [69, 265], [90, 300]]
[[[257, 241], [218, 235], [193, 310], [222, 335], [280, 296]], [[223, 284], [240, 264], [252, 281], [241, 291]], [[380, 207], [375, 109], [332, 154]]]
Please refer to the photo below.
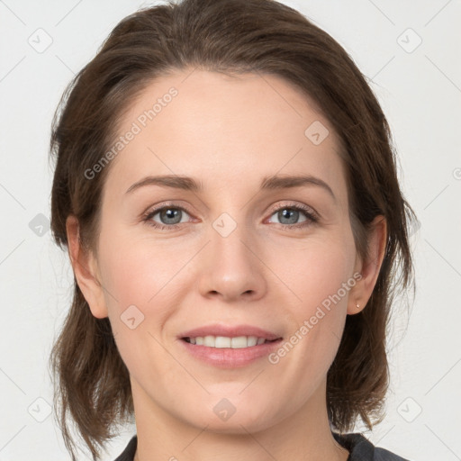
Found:
[[119, 461], [402, 460], [348, 433], [383, 418], [414, 215], [346, 51], [273, 0], [185, 0], [119, 23], [61, 105], [72, 459], [68, 415], [94, 459], [134, 421]]

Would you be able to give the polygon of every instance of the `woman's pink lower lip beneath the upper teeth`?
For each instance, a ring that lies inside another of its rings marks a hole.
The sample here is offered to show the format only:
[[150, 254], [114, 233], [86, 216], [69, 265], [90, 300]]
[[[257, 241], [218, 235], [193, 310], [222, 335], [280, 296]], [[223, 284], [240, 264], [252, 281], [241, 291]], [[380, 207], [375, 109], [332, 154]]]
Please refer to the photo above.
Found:
[[278, 348], [278, 345], [282, 339], [277, 339], [273, 342], [265, 342], [258, 344], [257, 346], [251, 346], [249, 348], [209, 348], [208, 346], [197, 346], [190, 342], [180, 339], [183, 343], [185, 350], [189, 352], [195, 358], [202, 360], [203, 362], [217, 366], [219, 368], [239, 368], [240, 366], [247, 366], [261, 357], [266, 357], [274, 349]]

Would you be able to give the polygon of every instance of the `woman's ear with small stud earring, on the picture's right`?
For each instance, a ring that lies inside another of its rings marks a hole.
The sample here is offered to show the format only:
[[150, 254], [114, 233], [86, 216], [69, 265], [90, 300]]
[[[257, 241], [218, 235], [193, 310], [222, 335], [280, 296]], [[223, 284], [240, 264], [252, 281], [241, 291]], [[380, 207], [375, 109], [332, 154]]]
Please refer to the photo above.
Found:
[[[370, 299], [376, 280], [383, 264], [385, 247], [387, 242], [387, 223], [384, 216], [376, 216], [372, 221], [371, 234], [368, 241], [368, 252], [365, 260], [356, 258], [354, 274], [360, 273], [361, 278], [350, 293], [348, 299], [348, 314], [353, 315], [361, 312]], [[357, 307], [358, 305], [358, 307]]]

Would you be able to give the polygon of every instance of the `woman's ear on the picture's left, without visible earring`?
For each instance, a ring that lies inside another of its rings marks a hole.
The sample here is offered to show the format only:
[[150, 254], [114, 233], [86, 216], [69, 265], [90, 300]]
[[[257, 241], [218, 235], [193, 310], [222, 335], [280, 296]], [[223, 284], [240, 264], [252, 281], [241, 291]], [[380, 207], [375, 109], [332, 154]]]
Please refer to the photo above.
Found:
[[68, 234], [68, 255], [77, 278], [80, 291], [90, 306], [90, 310], [97, 319], [108, 316], [104, 300], [104, 288], [99, 282], [96, 258], [93, 251], [85, 249], [80, 240], [78, 220], [69, 215], [66, 220]]

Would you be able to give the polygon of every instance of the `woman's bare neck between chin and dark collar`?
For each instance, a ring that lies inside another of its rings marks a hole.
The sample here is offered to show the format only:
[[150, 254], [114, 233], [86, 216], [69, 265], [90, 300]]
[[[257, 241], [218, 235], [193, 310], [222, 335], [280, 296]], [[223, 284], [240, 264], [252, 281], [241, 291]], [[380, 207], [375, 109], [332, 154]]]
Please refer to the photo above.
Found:
[[325, 399], [326, 383], [299, 411], [254, 432], [249, 432], [237, 420], [226, 432], [210, 429], [210, 423], [194, 426], [164, 411], [135, 382], [132, 383], [132, 391], [138, 435], [134, 461], [348, 459], [348, 450], [340, 447], [331, 435]]

